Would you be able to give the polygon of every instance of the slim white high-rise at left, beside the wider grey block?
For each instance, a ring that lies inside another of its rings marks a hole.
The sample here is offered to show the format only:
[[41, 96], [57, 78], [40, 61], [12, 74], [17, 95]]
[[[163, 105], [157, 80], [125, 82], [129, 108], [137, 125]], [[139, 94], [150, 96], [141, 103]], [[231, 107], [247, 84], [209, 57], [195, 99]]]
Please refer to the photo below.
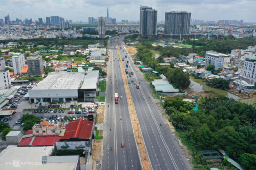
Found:
[[25, 57], [22, 53], [15, 53], [12, 56], [14, 75], [21, 75], [25, 67]]

